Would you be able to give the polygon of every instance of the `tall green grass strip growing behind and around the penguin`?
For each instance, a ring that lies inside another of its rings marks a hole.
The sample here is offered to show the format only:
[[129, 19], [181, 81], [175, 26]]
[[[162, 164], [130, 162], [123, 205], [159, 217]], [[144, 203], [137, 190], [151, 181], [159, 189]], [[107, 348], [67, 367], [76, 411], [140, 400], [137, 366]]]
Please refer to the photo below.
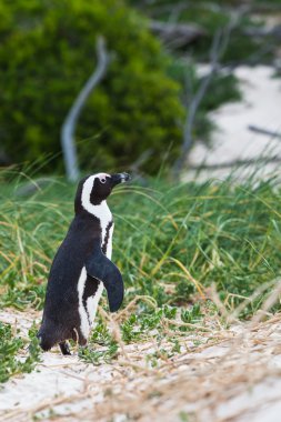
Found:
[[[53, 179], [22, 197], [26, 179], [8, 179], [2, 173], [0, 305], [41, 310], [53, 254], [73, 215], [76, 188]], [[177, 354], [179, 339], [193, 324], [203, 330], [205, 316], [220, 312], [213, 291], [229, 313], [244, 303], [239, 316], [248, 319], [280, 277], [281, 195], [275, 179], [257, 183], [249, 178], [241, 184], [231, 179], [182, 184], [151, 180], [149, 187], [117, 189], [108, 202], [116, 220], [113, 261], [126, 283], [118, 314], [121, 343], [154, 338], [170, 342]], [[107, 308], [106, 298], [102, 305]], [[278, 309], [280, 303], [272, 311]], [[33, 368], [37, 352], [24, 368], [17, 365], [26, 343], [11, 326], [1, 325], [1, 339], [7, 368], [1, 381]], [[114, 359], [119, 348], [100, 313], [90, 346], [79, 355], [100, 364]]]

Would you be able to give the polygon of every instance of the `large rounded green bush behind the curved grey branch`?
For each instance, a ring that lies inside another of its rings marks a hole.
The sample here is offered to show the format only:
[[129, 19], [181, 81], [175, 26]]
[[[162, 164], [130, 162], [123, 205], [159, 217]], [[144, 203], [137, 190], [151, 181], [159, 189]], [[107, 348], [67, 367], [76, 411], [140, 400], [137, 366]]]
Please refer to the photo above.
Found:
[[12, 161], [52, 155], [61, 165], [60, 128], [96, 67], [102, 34], [114, 59], [77, 129], [83, 169], [124, 167], [151, 149], [155, 171], [181, 138], [179, 84], [145, 21], [122, 0], [14, 0], [0, 3], [0, 135]]

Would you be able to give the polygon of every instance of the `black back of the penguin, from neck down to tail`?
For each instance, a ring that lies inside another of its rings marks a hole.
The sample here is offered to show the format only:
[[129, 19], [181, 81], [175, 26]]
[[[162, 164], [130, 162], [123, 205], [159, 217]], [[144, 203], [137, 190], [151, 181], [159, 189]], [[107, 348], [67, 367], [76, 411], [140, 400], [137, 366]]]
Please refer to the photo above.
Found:
[[[99, 220], [87, 212], [73, 219], [51, 265], [48, 280], [42, 326], [39, 331], [44, 350], [67, 339], [81, 340], [78, 280], [92, 252], [93, 242], [101, 238]], [[94, 292], [98, 282], [93, 282]], [[73, 331], [77, 330], [77, 333]]]

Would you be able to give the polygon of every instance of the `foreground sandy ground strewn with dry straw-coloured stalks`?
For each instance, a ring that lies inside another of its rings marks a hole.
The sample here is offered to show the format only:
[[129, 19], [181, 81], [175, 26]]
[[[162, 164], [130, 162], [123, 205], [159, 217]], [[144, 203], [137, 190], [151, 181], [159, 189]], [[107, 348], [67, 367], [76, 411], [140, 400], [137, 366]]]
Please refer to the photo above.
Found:
[[[38, 316], [1, 312], [23, 335]], [[126, 345], [100, 366], [44, 353], [37, 371], [3, 385], [0, 420], [280, 421], [281, 314], [228, 330], [212, 320], [204, 325], [170, 358], [161, 351], [171, 344], [153, 341]], [[155, 366], [145, 359], [152, 352]]]

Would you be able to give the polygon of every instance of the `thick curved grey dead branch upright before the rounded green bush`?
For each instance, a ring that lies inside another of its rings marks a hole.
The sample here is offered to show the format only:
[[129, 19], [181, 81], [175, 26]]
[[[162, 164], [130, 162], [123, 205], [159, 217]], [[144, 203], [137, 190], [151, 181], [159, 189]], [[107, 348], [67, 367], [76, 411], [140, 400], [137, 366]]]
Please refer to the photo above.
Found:
[[67, 178], [71, 182], [76, 182], [79, 178], [77, 148], [74, 140], [77, 122], [88, 97], [106, 76], [110, 62], [110, 54], [107, 52], [106, 42], [102, 37], [98, 38], [96, 46], [98, 57], [97, 68], [79, 92], [61, 128], [61, 147], [63, 160]]

